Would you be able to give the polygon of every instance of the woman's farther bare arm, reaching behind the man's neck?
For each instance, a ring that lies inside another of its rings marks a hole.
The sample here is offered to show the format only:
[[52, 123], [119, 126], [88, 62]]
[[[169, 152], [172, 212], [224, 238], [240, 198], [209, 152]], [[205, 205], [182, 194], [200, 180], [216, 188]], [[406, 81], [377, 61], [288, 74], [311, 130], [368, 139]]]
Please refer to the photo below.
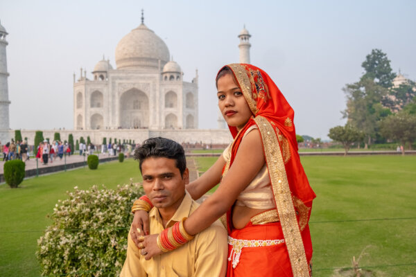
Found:
[[214, 165], [211, 166], [201, 177], [187, 185], [187, 191], [191, 195], [192, 199], [200, 199], [202, 195], [207, 193], [208, 190], [214, 188], [221, 180], [223, 168], [225, 166], [225, 160], [221, 155]]

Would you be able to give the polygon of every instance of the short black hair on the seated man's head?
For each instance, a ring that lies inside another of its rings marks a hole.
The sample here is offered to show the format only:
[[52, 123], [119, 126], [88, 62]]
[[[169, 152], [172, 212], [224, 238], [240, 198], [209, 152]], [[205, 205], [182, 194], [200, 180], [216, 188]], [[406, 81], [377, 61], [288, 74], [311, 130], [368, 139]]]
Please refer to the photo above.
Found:
[[176, 167], [182, 176], [187, 169], [187, 159], [185, 158], [184, 148], [182, 145], [171, 139], [158, 136], [157, 138], [146, 139], [144, 143], [136, 148], [135, 160], [139, 160], [139, 168], [141, 172], [141, 164], [150, 157], [174, 159]]

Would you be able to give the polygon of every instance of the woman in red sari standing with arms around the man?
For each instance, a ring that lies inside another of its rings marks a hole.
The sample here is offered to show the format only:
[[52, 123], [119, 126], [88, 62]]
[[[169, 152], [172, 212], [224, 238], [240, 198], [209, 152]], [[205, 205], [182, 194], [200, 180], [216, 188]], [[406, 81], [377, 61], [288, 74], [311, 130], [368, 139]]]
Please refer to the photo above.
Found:
[[[234, 141], [187, 186], [198, 199], [220, 181], [184, 220], [184, 233], [199, 233], [226, 213], [227, 276], [310, 276], [308, 222], [315, 193], [297, 153], [293, 109], [267, 73], [250, 64], [224, 66], [216, 84], [218, 106]], [[132, 230], [142, 229], [143, 218], [142, 211], [135, 213]], [[162, 242], [161, 247], [157, 235], [139, 238], [132, 231], [132, 237], [142, 241], [137, 244], [146, 259], [171, 245]]]

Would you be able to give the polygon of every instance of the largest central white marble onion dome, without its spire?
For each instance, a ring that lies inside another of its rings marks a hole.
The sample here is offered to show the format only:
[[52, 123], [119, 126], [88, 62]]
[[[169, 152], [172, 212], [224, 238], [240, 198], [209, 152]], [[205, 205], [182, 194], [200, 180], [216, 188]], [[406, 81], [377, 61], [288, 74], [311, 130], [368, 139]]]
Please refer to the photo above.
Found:
[[117, 69], [164, 66], [169, 60], [169, 49], [153, 30], [141, 24], [125, 35], [116, 47]]

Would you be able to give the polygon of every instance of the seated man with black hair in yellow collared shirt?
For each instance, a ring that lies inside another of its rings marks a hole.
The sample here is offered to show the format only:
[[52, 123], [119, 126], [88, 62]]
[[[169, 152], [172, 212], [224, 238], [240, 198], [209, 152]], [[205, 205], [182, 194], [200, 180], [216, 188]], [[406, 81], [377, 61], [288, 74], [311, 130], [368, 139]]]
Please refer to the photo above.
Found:
[[[154, 208], [149, 213], [150, 234], [161, 233], [189, 217], [198, 204], [186, 193], [189, 170], [182, 146], [164, 138], [148, 139], [135, 151], [144, 192]], [[150, 260], [128, 234], [127, 258], [121, 277], [225, 276], [227, 231], [217, 220], [182, 247]]]

